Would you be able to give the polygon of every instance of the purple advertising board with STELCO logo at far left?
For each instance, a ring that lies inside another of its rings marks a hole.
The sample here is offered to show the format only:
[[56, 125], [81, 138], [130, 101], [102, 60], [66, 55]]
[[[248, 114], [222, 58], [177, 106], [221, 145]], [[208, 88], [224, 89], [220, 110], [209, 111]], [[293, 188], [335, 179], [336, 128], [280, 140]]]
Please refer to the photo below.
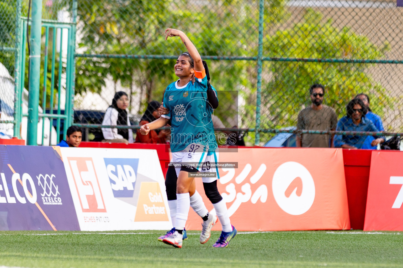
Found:
[[80, 230], [60, 155], [0, 145], [0, 230]]

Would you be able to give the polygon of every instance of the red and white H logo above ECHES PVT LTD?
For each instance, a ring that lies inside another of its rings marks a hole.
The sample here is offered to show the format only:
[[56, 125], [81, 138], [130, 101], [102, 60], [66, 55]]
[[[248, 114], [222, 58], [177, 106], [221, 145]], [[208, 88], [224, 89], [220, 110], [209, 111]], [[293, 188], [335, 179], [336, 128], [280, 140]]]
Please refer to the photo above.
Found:
[[106, 212], [92, 158], [68, 157], [83, 212]]

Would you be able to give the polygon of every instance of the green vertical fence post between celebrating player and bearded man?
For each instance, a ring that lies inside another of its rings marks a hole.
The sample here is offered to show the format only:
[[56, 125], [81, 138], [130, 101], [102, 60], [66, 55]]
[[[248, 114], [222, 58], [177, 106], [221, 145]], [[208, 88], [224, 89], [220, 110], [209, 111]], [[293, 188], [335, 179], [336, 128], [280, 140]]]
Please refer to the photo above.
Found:
[[260, 99], [262, 95], [262, 58], [263, 58], [263, 15], [264, 0], [259, 1], [259, 48], [258, 48], [258, 83], [256, 88], [256, 127], [255, 127], [255, 145], [260, 143]]

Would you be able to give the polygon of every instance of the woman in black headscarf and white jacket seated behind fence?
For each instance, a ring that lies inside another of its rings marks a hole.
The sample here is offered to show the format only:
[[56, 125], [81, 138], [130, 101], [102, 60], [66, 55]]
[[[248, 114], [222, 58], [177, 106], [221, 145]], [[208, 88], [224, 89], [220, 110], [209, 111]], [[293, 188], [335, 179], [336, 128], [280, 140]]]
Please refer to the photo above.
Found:
[[[112, 126], [130, 126], [127, 106], [129, 98], [123, 91], [115, 93], [112, 105], [106, 109], [102, 125]], [[102, 142], [112, 143], [132, 143], [133, 132], [131, 129], [102, 128], [104, 139]]]

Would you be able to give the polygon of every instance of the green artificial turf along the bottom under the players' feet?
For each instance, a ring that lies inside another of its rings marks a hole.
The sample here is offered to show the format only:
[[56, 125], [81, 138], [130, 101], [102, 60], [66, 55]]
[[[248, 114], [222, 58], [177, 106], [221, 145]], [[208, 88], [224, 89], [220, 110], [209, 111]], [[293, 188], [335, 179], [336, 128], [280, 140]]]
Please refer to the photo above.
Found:
[[157, 241], [160, 231], [0, 231], [0, 266], [403, 267], [398, 232], [239, 232], [228, 248], [212, 248], [217, 231], [204, 245], [199, 231], [188, 233], [177, 249]]

